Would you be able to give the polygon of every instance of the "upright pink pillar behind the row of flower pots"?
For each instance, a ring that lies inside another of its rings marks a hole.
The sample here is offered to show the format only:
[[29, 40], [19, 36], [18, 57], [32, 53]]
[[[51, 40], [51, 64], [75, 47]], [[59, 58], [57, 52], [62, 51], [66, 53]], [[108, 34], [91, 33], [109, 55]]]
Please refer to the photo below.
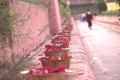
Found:
[[50, 28], [52, 34], [57, 34], [61, 30], [61, 16], [59, 12], [58, 0], [51, 0], [49, 8]]

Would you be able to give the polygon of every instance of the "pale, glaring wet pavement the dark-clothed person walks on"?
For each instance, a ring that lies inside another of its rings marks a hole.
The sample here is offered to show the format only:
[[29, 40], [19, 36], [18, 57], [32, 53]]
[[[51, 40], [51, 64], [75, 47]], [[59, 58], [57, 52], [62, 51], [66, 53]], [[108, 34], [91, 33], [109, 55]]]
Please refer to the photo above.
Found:
[[120, 34], [102, 25], [75, 21], [97, 80], [120, 80]]

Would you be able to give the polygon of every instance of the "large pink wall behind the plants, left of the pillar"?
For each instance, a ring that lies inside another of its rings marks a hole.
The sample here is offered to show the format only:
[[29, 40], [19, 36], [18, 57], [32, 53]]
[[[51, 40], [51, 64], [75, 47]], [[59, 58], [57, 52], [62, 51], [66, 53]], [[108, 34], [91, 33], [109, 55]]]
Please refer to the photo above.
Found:
[[[20, 14], [17, 26], [14, 26], [14, 52], [21, 54], [34, 49], [49, 35], [49, 27], [39, 35], [40, 30], [48, 24], [48, 10], [24, 2], [10, 4], [11, 13]], [[26, 20], [25, 20], [26, 19]], [[20, 21], [21, 20], [21, 21]], [[25, 20], [25, 21], [24, 21]]]

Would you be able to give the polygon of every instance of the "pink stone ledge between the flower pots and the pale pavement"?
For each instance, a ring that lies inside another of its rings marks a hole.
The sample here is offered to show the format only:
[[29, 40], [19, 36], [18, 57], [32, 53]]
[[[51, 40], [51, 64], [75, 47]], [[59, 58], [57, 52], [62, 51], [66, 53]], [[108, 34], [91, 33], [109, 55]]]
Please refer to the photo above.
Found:
[[82, 37], [74, 22], [73, 25], [69, 52], [69, 55], [72, 56], [70, 69], [73, 70], [73, 73], [66, 80], [96, 80], [86, 49], [81, 40]]

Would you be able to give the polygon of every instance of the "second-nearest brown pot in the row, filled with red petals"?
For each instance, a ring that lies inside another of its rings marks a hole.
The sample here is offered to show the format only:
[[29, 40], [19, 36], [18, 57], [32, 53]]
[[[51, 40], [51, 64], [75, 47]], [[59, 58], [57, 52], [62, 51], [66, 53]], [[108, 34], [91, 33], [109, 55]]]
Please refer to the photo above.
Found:
[[59, 56], [59, 57], [42, 57], [39, 58], [39, 60], [42, 63], [42, 66], [49, 66], [49, 67], [59, 67], [59, 66], [65, 66], [66, 68], [69, 68], [70, 65], [70, 59], [71, 56]]

